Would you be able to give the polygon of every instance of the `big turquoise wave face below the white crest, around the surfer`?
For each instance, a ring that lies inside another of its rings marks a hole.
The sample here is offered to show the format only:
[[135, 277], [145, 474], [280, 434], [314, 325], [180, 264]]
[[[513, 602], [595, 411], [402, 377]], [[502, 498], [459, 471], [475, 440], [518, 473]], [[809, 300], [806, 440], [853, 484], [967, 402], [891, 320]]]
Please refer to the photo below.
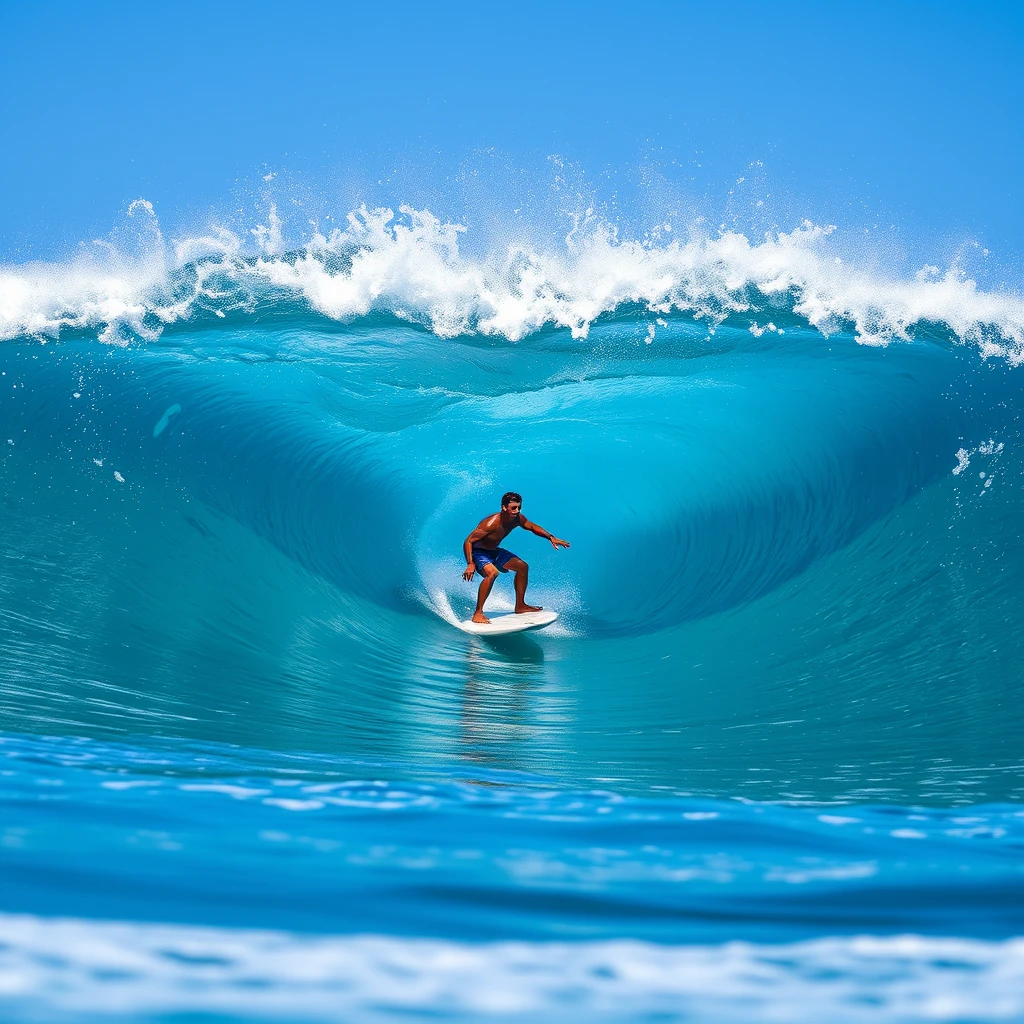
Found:
[[[184, 284], [226, 259], [184, 257]], [[822, 343], [778, 310], [710, 342], [666, 314], [646, 345], [635, 305], [586, 340], [443, 340], [219, 280], [224, 318], [195, 306], [155, 343], [0, 345], [9, 728], [1019, 798], [1006, 361]], [[510, 487], [572, 542], [510, 538], [565, 635], [481, 648], [450, 625], [475, 595], [461, 542]]]

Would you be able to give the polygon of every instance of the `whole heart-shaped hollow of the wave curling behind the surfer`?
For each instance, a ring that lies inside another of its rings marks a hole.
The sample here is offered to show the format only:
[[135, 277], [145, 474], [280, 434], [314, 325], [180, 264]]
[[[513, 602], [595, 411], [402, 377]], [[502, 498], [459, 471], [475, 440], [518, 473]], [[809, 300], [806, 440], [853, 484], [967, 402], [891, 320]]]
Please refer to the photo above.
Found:
[[[683, 370], [605, 356], [577, 381], [558, 380], [572, 355], [524, 352], [555, 383], [535, 366], [499, 394], [474, 393], [473, 375], [488, 376], [479, 351], [433, 338], [430, 353], [440, 345], [433, 365], [415, 346], [394, 355], [415, 364], [408, 394], [389, 367], [356, 361], [351, 381], [347, 364], [330, 382], [348, 388], [340, 401], [301, 362], [6, 348], [24, 380], [3, 426], [41, 456], [116, 456], [133, 480], [184, 487], [333, 586], [404, 612], [422, 607], [421, 585], [468, 610], [462, 539], [521, 490], [527, 515], [572, 542], [556, 555], [509, 539], [534, 564], [532, 593], [574, 633], [611, 637], [800, 573], [948, 471], [987, 401], [966, 360], [923, 345], [794, 342]], [[424, 403], [425, 388], [449, 396]]]

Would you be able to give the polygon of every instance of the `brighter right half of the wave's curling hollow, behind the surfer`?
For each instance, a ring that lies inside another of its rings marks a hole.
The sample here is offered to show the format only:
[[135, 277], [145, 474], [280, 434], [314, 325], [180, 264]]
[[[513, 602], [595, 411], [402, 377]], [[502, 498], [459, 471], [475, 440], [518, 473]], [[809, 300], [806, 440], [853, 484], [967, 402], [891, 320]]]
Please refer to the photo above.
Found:
[[583, 635], [742, 605], [947, 473], [976, 429], [977, 383], [969, 398], [963, 362], [936, 348], [846, 344], [467, 399], [410, 441], [479, 467], [417, 539], [421, 572], [468, 610], [469, 589], [445, 584], [442, 567], [513, 487], [529, 517], [571, 541], [555, 554], [516, 532], [508, 546], [534, 566], [536, 599]]

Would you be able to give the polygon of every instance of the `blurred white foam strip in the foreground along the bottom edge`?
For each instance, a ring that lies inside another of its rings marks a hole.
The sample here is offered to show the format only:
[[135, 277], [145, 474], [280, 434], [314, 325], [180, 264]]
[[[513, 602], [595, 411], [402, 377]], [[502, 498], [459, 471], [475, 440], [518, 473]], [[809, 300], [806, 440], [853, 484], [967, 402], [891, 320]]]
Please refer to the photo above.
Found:
[[1024, 939], [466, 943], [0, 914], [5, 1019], [1011, 1021]]

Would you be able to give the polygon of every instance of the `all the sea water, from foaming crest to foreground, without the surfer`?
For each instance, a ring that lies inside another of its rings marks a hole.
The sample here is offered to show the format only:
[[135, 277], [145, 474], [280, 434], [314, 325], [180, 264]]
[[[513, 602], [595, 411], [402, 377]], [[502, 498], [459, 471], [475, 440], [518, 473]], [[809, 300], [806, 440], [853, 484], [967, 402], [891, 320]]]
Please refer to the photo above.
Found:
[[131, 222], [0, 267], [5, 1021], [1024, 1020], [1024, 299]]

